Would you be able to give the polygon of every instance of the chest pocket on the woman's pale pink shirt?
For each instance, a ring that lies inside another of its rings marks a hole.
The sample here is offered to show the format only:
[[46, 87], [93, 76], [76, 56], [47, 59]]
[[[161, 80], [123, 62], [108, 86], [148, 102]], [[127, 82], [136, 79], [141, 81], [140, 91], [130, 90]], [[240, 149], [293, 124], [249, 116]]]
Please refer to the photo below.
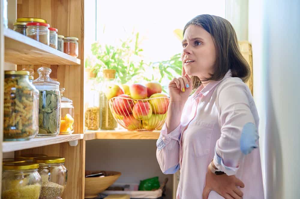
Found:
[[211, 134], [214, 129], [214, 123], [197, 121], [190, 124], [188, 151], [194, 157], [208, 155], [211, 151]]

